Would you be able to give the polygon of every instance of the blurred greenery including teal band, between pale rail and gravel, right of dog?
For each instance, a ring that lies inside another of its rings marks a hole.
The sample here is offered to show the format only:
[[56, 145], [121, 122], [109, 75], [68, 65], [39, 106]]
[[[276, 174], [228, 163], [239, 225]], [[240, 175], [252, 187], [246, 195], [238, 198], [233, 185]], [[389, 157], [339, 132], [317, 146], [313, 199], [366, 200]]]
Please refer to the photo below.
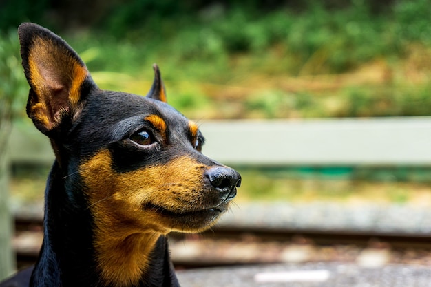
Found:
[[[326, 169], [323, 170], [323, 169]], [[344, 175], [330, 168], [237, 169], [244, 180], [238, 200], [373, 202], [407, 204], [428, 198], [430, 169], [356, 167]]]

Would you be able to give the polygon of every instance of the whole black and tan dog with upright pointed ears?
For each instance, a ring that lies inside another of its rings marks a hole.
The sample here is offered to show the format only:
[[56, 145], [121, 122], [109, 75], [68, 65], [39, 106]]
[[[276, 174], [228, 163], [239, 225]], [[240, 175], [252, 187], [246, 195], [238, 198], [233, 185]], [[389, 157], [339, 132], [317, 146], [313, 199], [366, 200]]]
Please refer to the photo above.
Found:
[[110, 92], [49, 30], [23, 23], [19, 39], [27, 113], [56, 157], [30, 286], [179, 286], [166, 235], [209, 228], [240, 175], [202, 155], [198, 126], [167, 105], [156, 65], [146, 97]]

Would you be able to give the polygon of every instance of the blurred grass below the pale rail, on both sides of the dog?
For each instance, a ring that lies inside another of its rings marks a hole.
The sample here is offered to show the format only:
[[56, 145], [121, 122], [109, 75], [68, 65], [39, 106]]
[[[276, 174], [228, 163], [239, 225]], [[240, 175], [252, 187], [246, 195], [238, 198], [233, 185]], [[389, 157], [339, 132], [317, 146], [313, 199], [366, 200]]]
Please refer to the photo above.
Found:
[[[421, 180], [397, 180], [389, 176], [393, 171], [372, 171], [379, 178], [346, 178], [345, 169], [313, 169], [297, 171], [278, 169], [238, 169], [242, 186], [235, 202], [315, 202], [330, 201], [343, 204], [415, 204], [429, 206], [431, 187]], [[49, 168], [16, 169], [10, 180], [12, 198], [23, 203], [41, 202]], [[323, 172], [323, 173], [322, 173]], [[428, 171], [429, 173], [430, 171]], [[414, 174], [414, 173], [412, 173]], [[428, 177], [429, 178], [429, 177]]]

